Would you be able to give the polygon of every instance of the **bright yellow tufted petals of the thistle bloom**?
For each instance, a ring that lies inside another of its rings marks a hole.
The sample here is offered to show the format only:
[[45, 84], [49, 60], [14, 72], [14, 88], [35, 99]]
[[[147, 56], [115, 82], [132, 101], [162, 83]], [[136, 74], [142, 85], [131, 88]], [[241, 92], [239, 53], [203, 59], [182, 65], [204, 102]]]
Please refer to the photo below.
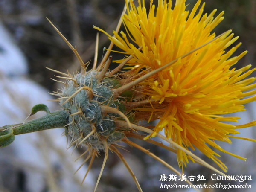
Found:
[[[149, 10], [144, 0], [138, 0], [137, 7], [132, 0], [126, 0], [128, 11], [122, 17], [126, 32], [114, 31], [114, 36], [105, 34], [123, 53], [133, 56], [128, 64], [134, 66], [137, 73], [150, 73], [178, 58], [137, 85], [143, 87], [144, 97], [140, 99], [143, 105], [133, 108], [135, 117], [148, 121], [160, 119], [154, 133], [146, 139], [155, 137], [164, 128], [167, 138], [186, 149], [198, 148], [225, 171], [227, 167], [218, 160], [216, 156], [220, 155], [211, 147], [245, 158], [225, 151], [215, 140], [231, 143], [230, 137], [247, 139], [230, 134], [238, 134], [236, 129], [253, 126], [256, 122], [235, 126], [225, 122], [238, 122], [239, 117], [220, 115], [245, 111], [243, 105], [256, 100], [256, 90], [252, 90], [256, 87], [252, 84], [255, 78], [245, 79], [256, 68], [249, 70], [251, 65], [241, 69], [233, 67], [246, 51], [231, 57], [241, 45], [227, 49], [238, 39], [233, 38], [231, 30], [212, 41], [215, 38], [212, 30], [223, 20], [224, 12], [214, 18], [216, 9], [209, 15], [203, 14], [205, 3], [199, 8], [200, 4], [201, 0], [198, 0], [189, 13], [185, 0], [176, 0], [173, 9], [171, 0], [158, 0], [157, 7], [151, 0]], [[204, 44], [206, 46], [182, 57]], [[142, 47], [141, 51], [139, 47]], [[145, 70], [141, 72], [143, 68]], [[134, 76], [134, 80], [138, 77]], [[182, 167], [189, 159], [193, 161], [180, 149], [177, 149], [177, 158]]]

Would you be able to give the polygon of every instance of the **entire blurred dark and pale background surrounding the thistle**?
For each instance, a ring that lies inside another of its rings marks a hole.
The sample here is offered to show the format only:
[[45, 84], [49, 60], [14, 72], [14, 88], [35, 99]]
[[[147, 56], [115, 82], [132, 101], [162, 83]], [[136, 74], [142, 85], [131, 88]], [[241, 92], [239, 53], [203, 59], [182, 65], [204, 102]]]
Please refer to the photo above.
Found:
[[[76, 46], [83, 61], [93, 61], [97, 33], [93, 25], [112, 34], [124, 2], [124, 0], [0, 0], [0, 126], [23, 122], [32, 106], [38, 103], [47, 104], [51, 111], [59, 109], [55, 102], [47, 101], [47, 99], [54, 99], [47, 92], [57, 90], [59, 84], [50, 79], [56, 74], [45, 67], [62, 72], [68, 70], [70, 73], [79, 71], [79, 62], [75, 55], [55, 32], [46, 17], [73, 46]], [[187, 0], [187, 8], [192, 9], [195, 2], [196, 0]], [[204, 12], [212, 12], [215, 8], [218, 9], [217, 14], [222, 10], [225, 11], [225, 19], [214, 31], [221, 34], [228, 29], [233, 29], [235, 35], [240, 37], [238, 41], [242, 42], [235, 55], [239, 55], [244, 50], [249, 51], [236, 64], [236, 68], [247, 64], [255, 66], [256, 1], [206, 0]], [[103, 47], [108, 45], [107, 37], [100, 33], [98, 61], [102, 58]], [[234, 114], [242, 117], [240, 124], [256, 119], [255, 102], [247, 105], [246, 108], [246, 112]], [[90, 175], [81, 185], [86, 166], [83, 166], [76, 175], [73, 173], [83, 161], [74, 162], [84, 148], [75, 149], [71, 155], [73, 149], [67, 150], [66, 138], [61, 137], [63, 131], [56, 129], [20, 135], [12, 145], [0, 148], [0, 192], [92, 191], [104, 155], [96, 158]], [[255, 128], [239, 131], [241, 131], [240, 137], [256, 139]], [[135, 142], [150, 149], [178, 169], [175, 154], [140, 140]], [[244, 183], [256, 187], [256, 144], [234, 139], [233, 145], [221, 143], [221, 146], [232, 153], [248, 158], [247, 162], [244, 162], [220, 153], [220, 159], [229, 168], [227, 175], [252, 175], [253, 180]], [[142, 152], [127, 146], [125, 149], [128, 151], [121, 152], [134, 170], [143, 191], [166, 191], [166, 189], [160, 189], [160, 175], [173, 173]], [[195, 151], [195, 154], [215, 166], [198, 151]], [[207, 184], [214, 184], [210, 179], [212, 173], [209, 169], [195, 163], [189, 163], [185, 170], [186, 175], [204, 175], [206, 181], [201, 183]], [[233, 181], [218, 181], [218, 183], [238, 184]], [[114, 154], [109, 154], [97, 191], [137, 191], [125, 166]], [[179, 189], [179, 191], [183, 190]], [[210, 190], [204, 189], [204, 191]], [[222, 191], [222, 189], [212, 189], [212, 191]], [[253, 188], [244, 189], [244, 191], [253, 191]]]

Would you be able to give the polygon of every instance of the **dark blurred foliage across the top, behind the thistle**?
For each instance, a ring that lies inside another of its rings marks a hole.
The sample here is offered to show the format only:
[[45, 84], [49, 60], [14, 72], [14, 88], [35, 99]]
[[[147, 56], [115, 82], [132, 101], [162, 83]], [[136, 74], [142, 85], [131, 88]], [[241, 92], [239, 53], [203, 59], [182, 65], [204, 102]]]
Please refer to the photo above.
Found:
[[[191, 9], [196, 0], [188, 0]], [[53, 73], [44, 66], [56, 70], [76, 71], [79, 65], [73, 52], [50, 26], [46, 17], [55, 24], [63, 35], [77, 47], [84, 61], [94, 55], [97, 31], [93, 25], [112, 32], [122, 12], [122, 0], [1, 0], [0, 18], [15, 38], [16, 43], [29, 61], [30, 76], [52, 90], [49, 76]], [[240, 63], [253, 64], [256, 41], [256, 2], [254, 0], [207, 0], [205, 12], [217, 8], [225, 11], [224, 21], [216, 28], [217, 34], [233, 29], [243, 42], [238, 52], [250, 52]], [[102, 47], [108, 47], [108, 39], [100, 34], [99, 61]]]

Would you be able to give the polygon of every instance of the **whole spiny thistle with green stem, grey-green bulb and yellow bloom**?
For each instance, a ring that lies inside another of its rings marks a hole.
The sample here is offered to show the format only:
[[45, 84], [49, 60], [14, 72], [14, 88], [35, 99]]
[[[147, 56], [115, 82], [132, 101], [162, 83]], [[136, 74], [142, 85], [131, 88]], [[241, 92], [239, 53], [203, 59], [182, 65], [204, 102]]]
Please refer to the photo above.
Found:
[[[136, 176], [119, 152], [121, 141], [140, 149], [178, 175], [180, 172], [130, 141], [129, 137], [145, 140], [176, 153], [182, 171], [183, 166], [191, 160], [223, 174], [190, 151], [198, 148], [226, 172], [227, 167], [216, 157], [219, 155], [209, 145], [245, 160], [225, 151], [214, 142], [220, 140], [231, 143], [229, 137], [256, 141], [230, 135], [239, 133], [237, 128], [255, 125], [255, 121], [235, 126], [222, 121], [237, 122], [239, 117], [219, 116], [244, 111], [243, 104], [256, 99], [252, 96], [256, 93], [255, 90], [244, 93], [256, 87], [256, 84], [251, 84], [255, 78], [243, 80], [256, 69], [247, 71], [250, 65], [239, 70], [231, 68], [246, 52], [230, 58], [240, 44], [228, 52], [224, 51], [237, 38], [233, 38], [231, 30], [218, 36], [211, 34], [212, 29], [223, 19], [223, 12], [215, 19], [213, 15], [216, 10], [208, 16], [202, 15], [203, 4], [195, 15], [201, 0], [196, 3], [190, 15], [185, 10], [185, 0], [177, 0], [173, 10], [171, 1], [167, 3], [166, 0], [159, 0], [157, 9], [152, 4], [153, 0], [150, 2], [147, 13], [144, 0], [138, 1], [137, 8], [133, 1], [126, 0], [114, 36], [95, 27], [108, 35], [111, 44], [98, 66], [95, 58], [92, 70], [87, 70], [89, 63], [84, 64], [76, 49], [49, 21], [75, 53], [80, 61], [81, 72], [72, 75], [49, 69], [61, 75], [57, 77], [66, 80], [58, 81], [64, 87], [60, 92], [52, 93], [59, 97], [57, 101], [63, 110], [50, 113], [45, 105], [36, 105], [31, 114], [43, 110], [47, 115], [24, 124], [1, 128], [0, 146], [12, 143], [14, 135], [17, 134], [64, 127], [66, 135], [71, 137], [70, 146], [87, 146], [87, 151], [81, 157], [88, 153], [84, 160], [86, 163], [90, 159], [88, 171], [99, 151], [105, 152], [96, 187], [108, 159], [108, 151], [111, 150], [125, 164], [139, 191], [142, 189]], [[119, 35], [122, 22], [126, 33], [120, 32]], [[98, 38], [96, 45], [97, 41]], [[112, 63], [109, 55], [114, 51], [114, 44], [124, 51], [120, 54], [129, 56], [114, 61], [119, 65], [108, 70]], [[122, 71], [125, 65], [129, 66], [128, 70]], [[247, 72], [242, 74], [245, 71]], [[243, 99], [246, 96], [252, 97]], [[154, 128], [139, 125], [140, 120], [151, 122], [157, 119], [160, 121]], [[165, 136], [159, 134], [163, 129]], [[145, 137], [138, 130], [149, 135]], [[170, 146], [151, 140], [151, 137], [159, 137]]]

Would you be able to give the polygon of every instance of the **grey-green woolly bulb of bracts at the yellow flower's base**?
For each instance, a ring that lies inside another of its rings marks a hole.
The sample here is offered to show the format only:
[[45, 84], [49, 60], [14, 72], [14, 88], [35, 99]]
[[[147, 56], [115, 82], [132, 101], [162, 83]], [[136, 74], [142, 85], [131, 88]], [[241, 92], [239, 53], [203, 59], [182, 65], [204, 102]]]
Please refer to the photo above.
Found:
[[[67, 126], [72, 140], [79, 145], [84, 143], [96, 149], [103, 149], [103, 138], [108, 144], [115, 143], [125, 135], [116, 129], [115, 113], [103, 113], [102, 106], [116, 108], [125, 113], [123, 100], [113, 98], [111, 88], [118, 87], [119, 81], [106, 78], [97, 79], [97, 71], [85, 75], [79, 73], [68, 81], [62, 90], [61, 105], [69, 116]], [[67, 99], [70, 98], [70, 99]]]

